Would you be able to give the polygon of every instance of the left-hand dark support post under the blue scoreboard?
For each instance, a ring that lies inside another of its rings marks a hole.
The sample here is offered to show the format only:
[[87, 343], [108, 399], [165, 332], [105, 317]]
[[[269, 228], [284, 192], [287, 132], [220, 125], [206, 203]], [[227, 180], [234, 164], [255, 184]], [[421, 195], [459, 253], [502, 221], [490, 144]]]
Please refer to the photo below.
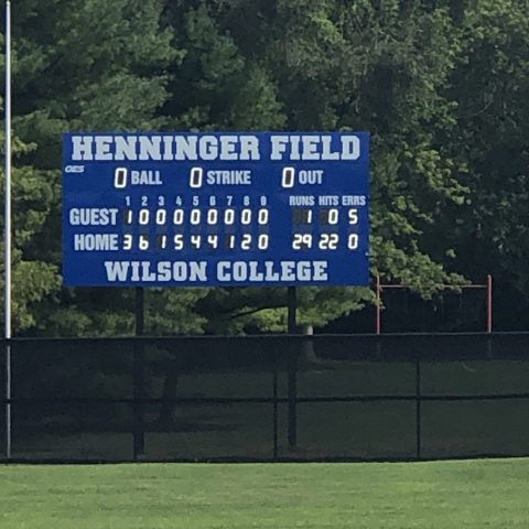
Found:
[[[136, 290], [136, 336], [143, 336], [144, 330], [144, 305], [145, 292], [141, 287]], [[133, 347], [133, 410], [134, 410], [134, 432], [133, 432], [133, 456], [145, 453], [145, 434], [143, 422], [143, 398], [144, 398], [144, 377], [143, 377], [143, 343], [138, 339]]]

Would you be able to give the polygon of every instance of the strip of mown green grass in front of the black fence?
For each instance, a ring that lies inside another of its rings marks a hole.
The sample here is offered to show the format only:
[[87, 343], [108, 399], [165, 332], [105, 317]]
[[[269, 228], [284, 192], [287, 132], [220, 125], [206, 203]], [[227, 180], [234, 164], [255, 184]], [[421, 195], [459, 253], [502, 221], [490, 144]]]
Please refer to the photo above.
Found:
[[529, 527], [529, 460], [1, 466], [2, 529]]

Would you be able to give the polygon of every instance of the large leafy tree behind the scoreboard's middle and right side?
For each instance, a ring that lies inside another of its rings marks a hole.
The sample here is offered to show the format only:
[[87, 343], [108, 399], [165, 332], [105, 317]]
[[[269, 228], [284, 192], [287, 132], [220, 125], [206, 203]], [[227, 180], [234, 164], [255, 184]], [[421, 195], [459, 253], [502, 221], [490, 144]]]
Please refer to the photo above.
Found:
[[[445, 268], [453, 249], [427, 249], [423, 235], [466, 193], [458, 183], [465, 164], [443, 147], [455, 126], [444, 89], [458, 51], [447, 8], [404, 8], [397, 0], [378, 8], [370, 1], [204, 0], [177, 2], [172, 15], [186, 48], [165, 107], [177, 123], [370, 130], [374, 271], [424, 296], [462, 282]], [[234, 87], [244, 86], [241, 72], [251, 79], [256, 68], [268, 88], [247, 88], [240, 104]], [[268, 105], [262, 94], [273, 95]], [[228, 110], [234, 106], [237, 120]], [[198, 311], [212, 332], [279, 331], [285, 328], [284, 298], [280, 289], [215, 289]], [[301, 321], [324, 325], [368, 299], [366, 289], [303, 289]]]

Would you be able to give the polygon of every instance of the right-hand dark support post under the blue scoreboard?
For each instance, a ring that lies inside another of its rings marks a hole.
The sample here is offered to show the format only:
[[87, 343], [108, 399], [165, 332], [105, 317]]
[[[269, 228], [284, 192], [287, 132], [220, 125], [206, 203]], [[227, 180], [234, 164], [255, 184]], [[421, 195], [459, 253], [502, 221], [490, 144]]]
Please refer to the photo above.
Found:
[[[295, 287], [289, 287], [287, 290], [287, 310], [288, 310], [288, 333], [298, 334], [298, 291]], [[296, 342], [290, 345], [289, 361], [289, 446], [294, 447], [298, 444], [298, 356], [299, 347]]]

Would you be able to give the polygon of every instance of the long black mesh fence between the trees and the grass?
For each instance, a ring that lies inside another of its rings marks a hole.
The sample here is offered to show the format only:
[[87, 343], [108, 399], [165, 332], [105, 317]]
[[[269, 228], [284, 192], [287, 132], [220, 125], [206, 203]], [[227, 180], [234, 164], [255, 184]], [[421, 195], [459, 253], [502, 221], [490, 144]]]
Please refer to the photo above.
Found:
[[3, 461], [529, 455], [529, 334], [2, 346]]

